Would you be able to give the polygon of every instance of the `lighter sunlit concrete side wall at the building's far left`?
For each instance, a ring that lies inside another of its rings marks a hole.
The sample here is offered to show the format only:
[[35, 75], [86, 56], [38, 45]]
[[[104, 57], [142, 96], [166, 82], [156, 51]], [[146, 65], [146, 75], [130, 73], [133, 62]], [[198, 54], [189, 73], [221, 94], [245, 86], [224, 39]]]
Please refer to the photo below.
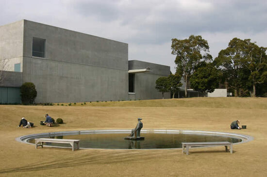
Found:
[[22, 72], [24, 21], [0, 26], [0, 60], [8, 60], [7, 71], [14, 71], [14, 64], [20, 63]]

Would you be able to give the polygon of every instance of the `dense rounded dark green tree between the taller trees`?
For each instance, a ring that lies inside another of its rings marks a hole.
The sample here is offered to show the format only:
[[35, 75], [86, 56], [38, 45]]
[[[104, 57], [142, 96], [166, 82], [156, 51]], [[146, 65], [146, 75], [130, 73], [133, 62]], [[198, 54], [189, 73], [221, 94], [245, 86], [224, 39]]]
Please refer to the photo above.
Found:
[[219, 86], [219, 71], [212, 63], [202, 62], [190, 78], [191, 87], [199, 92], [212, 93]]

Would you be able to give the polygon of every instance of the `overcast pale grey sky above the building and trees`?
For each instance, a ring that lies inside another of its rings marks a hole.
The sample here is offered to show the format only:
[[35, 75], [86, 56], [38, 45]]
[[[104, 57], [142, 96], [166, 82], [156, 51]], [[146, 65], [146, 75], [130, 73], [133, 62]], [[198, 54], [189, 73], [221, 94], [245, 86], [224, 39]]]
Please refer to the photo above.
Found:
[[234, 37], [267, 47], [267, 0], [0, 0], [0, 26], [21, 19], [128, 43], [129, 60], [172, 72], [172, 38], [201, 35], [213, 58]]

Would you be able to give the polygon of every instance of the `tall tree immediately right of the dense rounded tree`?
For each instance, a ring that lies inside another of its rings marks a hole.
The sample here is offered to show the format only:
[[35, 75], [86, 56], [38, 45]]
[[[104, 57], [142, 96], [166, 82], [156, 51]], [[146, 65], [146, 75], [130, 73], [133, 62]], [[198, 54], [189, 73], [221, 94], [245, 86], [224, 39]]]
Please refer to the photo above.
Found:
[[233, 38], [228, 48], [222, 49], [218, 57], [215, 58], [214, 63], [219, 67], [226, 82], [226, 88], [234, 89], [234, 97], [237, 97], [237, 90], [240, 88], [240, 75], [242, 74], [241, 59], [244, 57], [245, 42], [238, 38]]

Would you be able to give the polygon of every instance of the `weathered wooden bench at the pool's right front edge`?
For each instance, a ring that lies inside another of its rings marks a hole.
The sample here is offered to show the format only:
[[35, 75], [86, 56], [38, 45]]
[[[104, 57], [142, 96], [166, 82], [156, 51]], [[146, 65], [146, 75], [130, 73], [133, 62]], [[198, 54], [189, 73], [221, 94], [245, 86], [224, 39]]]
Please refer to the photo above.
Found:
[[196, 143], [182, 143], [183, 145], [183, 154], [186, 148], [186, 155], [188, 155], [189, 147], [204, 147], [204, 146], [219, 146], [224, 145], [226, 152], [228, 152], [228, 146], [230, 147], [230, 153], [233, 153], [233, 143], [229, 142], [196, 142]]

